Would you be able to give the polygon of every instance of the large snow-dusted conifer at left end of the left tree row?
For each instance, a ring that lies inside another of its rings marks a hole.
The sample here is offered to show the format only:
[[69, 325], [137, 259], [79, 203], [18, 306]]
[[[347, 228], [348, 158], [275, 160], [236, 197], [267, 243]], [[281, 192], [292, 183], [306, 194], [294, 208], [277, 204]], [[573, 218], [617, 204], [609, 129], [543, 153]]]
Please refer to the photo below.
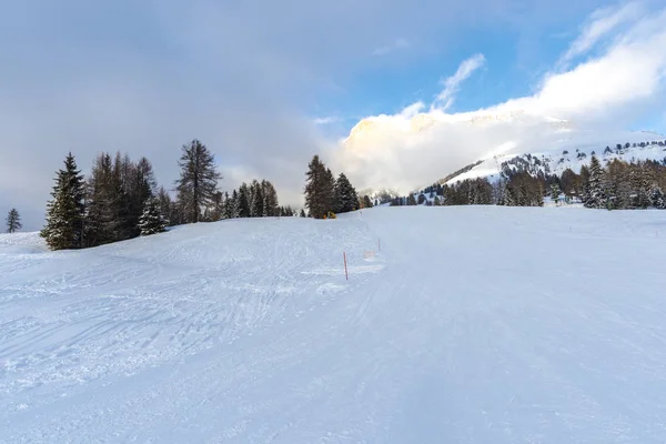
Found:
[[47, 205], [47, 225], [40, 232], [52, 250], [83, 246], [83, 176], [70, 152], [59, 170], [53, 198]]

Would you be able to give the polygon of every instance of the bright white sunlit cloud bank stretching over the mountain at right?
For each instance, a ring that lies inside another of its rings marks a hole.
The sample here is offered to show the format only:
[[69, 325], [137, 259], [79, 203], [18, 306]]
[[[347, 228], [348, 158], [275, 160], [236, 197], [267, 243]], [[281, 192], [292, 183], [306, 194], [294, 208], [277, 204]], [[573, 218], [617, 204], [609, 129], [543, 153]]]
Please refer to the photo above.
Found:
[[[627, 8], [633, 11], [635, 7]], [[526, 152], [548, 145], [563, 137], [562, 127], [612, 132], [627, 129], [650, 110], [660, 113], [666, 9], [649, 16], [623, 12], [627, 28], [622, 33], [608, 32], [608, 17], [618, 13], [595, 13], [567, 51], [579, 54], [603, 37], [609, 40], [603, 53], [565, 72], [554, 69], [533, 95], [447, 113], [460, 83], [483, 64], [477, 56], [444, 82], [430, 108], [416, 103], [396, 114], [363, 119], [340, 144], [333, 161], [361, 189], [395, 186], [405, 192], [506, 147]]]

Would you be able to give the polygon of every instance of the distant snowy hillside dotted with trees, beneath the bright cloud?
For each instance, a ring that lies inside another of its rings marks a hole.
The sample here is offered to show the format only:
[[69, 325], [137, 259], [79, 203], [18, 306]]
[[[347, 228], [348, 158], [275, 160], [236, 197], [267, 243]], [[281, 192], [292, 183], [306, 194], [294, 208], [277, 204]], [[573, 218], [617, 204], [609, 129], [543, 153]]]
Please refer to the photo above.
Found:
[[[511, 147], [511, 144], [509, 144]], [[666, 135], [652, 132], [628, 132], [606, 135], [582, 131], [562, 132], [557, 140], [537, 150], [525, 152], [508, 149], [475, 162], [443, 179], [443, 183], [455, 183], [465, 179], [487, 178], [497, 180], [502, 171], [526, 170], [533, 174], [561, 175], [567, 168], [578, 173], [582, 165], [589, 163], [596, 154], [603, 162], [619, 159], [666, 159]]]

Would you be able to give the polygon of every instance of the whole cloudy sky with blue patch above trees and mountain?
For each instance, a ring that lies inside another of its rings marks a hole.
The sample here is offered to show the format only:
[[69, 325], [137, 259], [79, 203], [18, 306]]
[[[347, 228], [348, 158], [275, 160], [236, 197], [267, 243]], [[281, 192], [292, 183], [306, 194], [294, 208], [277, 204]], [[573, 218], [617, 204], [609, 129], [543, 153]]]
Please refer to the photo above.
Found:
[[[266, 178], [300, 204], [314, 153], [404, 189], [538, 143], [534, 119], [666, 132], [658, 0], [1, 3], [0, 211], [27, 230], [70, 150], [84, 172], [100, 151], [145, 155], [171, 185], [198, 138], [223, 190]], [[529, 119], [464, 123], [514, 112]]]

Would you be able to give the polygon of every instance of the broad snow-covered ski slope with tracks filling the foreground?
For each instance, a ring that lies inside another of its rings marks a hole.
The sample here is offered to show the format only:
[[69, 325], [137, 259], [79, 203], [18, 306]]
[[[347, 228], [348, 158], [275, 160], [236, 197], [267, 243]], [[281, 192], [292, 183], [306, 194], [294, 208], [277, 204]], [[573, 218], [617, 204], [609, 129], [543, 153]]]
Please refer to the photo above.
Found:
[[0, 442], [664, 443], [665, 263], [659, 211], [1, 235]]

